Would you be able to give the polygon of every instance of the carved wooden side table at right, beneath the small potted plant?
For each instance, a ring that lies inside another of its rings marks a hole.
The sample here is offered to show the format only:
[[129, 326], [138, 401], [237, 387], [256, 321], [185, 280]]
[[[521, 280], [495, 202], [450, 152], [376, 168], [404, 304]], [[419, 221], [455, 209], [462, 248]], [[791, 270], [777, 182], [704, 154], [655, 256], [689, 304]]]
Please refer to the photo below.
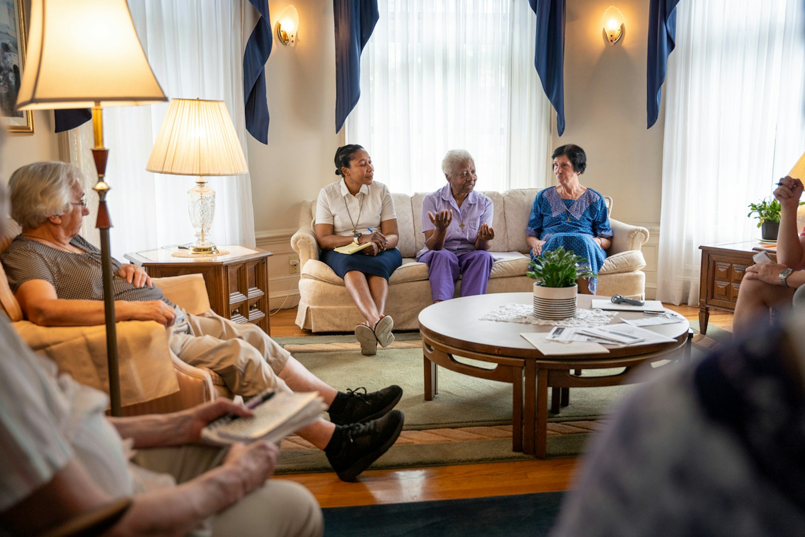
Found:
[[[699, 331], [707, 333], [710, 310], [735, 312], [738, 289], [747, 266], [754, 264], [754, 246], [770, 246], [758, 241], [729, 242], [699, 246], [702, 250], [699, 279]], [[777, 255], [769, 252], [774, 261]]]

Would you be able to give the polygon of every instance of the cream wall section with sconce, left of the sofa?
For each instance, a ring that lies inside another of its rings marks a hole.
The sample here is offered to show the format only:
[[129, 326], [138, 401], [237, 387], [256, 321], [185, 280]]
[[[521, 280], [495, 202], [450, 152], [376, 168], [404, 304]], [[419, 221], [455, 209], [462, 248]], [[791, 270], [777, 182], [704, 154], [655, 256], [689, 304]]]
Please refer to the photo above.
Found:
[[[296, 46], [276, 37], [280, 12], [293, 3], [299, 11]], [[335, 33], [332, 2], [269, 2], [274, 48], [266, 63], [270, 128], [268, 145], [247, 143], [258, 246], [269, 260], [271, 308], [296, 304], [297, 277], [288, 263], [291, 235], [299, 227], [301, 200], [315, 198], [336, 180], [332, 156], [343, 145], [336, 134]], [[289, 296], [290, 294], [290, 296]], [[288, 298], [286, 302], [286, 298]]]

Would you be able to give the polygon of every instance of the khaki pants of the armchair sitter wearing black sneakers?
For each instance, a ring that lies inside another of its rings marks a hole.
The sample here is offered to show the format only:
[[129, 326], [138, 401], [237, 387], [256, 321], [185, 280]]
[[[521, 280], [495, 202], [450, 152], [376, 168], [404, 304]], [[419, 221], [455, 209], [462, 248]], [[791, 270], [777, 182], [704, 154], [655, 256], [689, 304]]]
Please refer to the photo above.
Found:
[[266, 388], [291, 391], [278, 377], [291, 354], [257, 325], [213, 312], [188, 314], [188, 324], [192, 334], [173, 331], [168, 340], [182, 361], [215, 371], [229, 390], [245, 398]]

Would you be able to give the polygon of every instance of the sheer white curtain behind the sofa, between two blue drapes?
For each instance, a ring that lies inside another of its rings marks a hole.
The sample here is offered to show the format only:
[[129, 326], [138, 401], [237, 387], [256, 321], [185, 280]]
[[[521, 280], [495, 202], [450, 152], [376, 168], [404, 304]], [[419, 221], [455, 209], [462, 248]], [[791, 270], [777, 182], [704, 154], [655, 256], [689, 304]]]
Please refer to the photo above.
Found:
[[475, 158], [478, 188], [550, 182], [550, 103], [534, 68], [525, 0], [388, 0], [361, 56], [347, 143], [393, 192], [444, 184], [450, 149]]

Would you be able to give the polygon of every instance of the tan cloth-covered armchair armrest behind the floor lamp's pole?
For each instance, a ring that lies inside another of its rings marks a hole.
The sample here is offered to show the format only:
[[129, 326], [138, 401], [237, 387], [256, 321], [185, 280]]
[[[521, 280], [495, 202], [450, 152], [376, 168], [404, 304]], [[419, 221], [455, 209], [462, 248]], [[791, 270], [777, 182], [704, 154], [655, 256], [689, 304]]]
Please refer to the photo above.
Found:
[[[44, 327], [21, 320], [11, 324], [31, 349], [87, 386], [108, 393], [106, 327]], [[153, 320], [117, 324], [121, 402], [125, 407], [179, 390], [167, 345], [167, 331]]]

